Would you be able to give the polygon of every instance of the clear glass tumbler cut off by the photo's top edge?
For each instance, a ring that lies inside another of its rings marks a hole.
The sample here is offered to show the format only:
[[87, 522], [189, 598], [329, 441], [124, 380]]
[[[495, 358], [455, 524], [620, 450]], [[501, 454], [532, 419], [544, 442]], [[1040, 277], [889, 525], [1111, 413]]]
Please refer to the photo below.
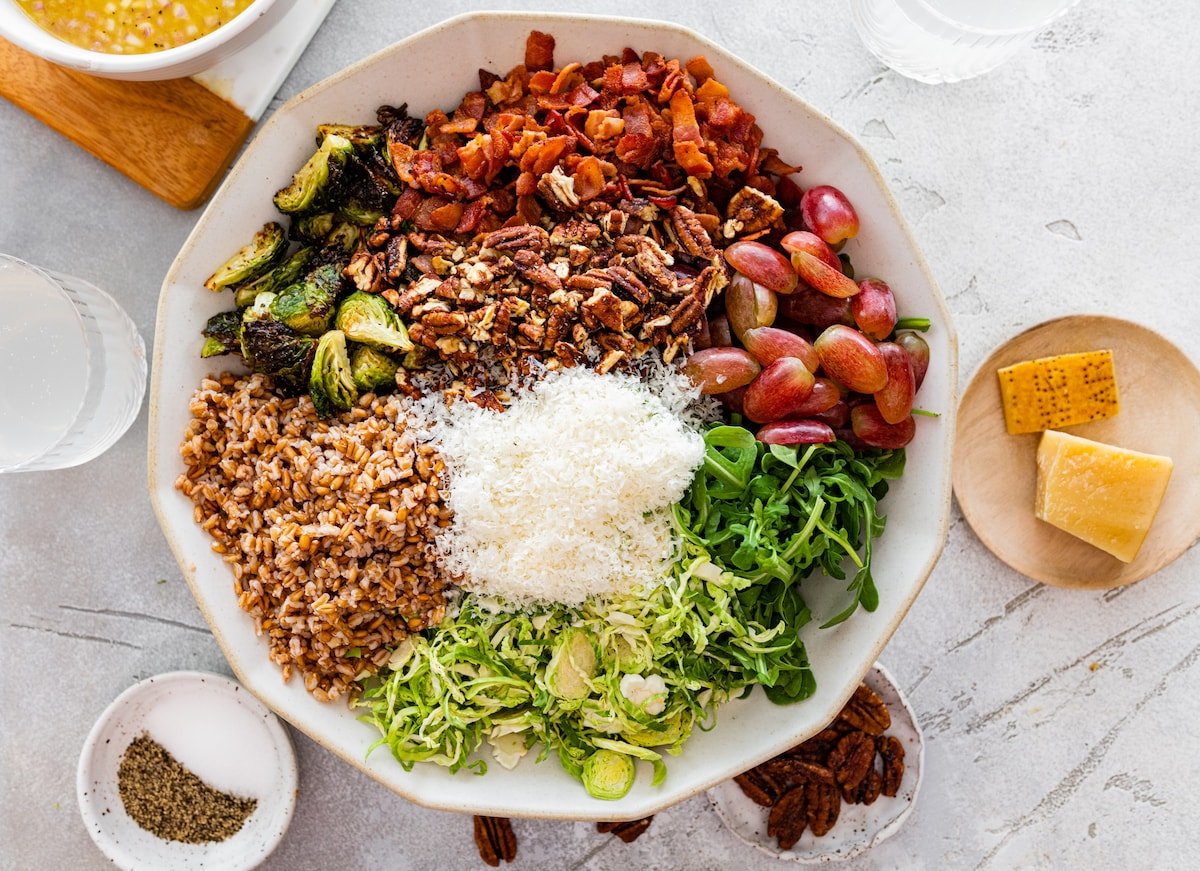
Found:
[[1079, 0], [850, 0], [871, 53], [919, 82], [994, 70]]

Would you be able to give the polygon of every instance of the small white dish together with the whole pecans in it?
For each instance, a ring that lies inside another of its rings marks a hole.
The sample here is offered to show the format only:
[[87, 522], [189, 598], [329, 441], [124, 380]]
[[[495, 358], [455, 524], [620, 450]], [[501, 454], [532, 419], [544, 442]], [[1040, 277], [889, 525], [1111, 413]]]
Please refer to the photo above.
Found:
[[917, 716], [875, 663], [838, 719], [803, 744], [708, 791], [730, 831], [779, 859], [851, 859], [912, 812], [925, 757]]

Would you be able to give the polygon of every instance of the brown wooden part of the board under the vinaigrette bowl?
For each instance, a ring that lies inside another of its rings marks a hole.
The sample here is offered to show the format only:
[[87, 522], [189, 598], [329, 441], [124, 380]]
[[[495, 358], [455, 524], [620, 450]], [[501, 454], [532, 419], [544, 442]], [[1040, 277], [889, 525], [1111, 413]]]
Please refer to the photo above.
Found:
[[4, 40], [0, 96], [180, 209], [208, 199], [254, 126], [192, 79], [96, 78]]

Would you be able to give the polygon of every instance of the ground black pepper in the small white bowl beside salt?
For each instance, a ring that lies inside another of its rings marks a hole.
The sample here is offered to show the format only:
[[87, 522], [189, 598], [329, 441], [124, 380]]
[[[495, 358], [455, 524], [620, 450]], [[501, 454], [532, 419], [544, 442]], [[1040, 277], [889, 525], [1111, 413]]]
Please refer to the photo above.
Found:
[[258, 805], [214, 789], [145, 734], [125, 749], [116, 787], [133, 822], [166, 841], [224, 841]]

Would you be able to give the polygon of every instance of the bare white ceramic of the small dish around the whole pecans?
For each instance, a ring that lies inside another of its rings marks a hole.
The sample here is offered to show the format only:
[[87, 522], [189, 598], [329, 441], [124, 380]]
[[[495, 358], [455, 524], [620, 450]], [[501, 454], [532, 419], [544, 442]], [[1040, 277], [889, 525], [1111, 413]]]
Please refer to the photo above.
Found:
[[853, 859], [900, 830], [917, 804], [922, 770], [925, 767], [925, 741], [917, 715], [900, 692], [895, 678], [876, 662], [864, 680], [880, 693], [892, 713], [892, 728], [887, 734], [904, 745], [905, 767], [900, 791], [894, 797], [880, 795], [869, 805], [844, 804], [836, 825], [824, 837], [815, 837], [811, 831], [805, 831], [791, 849], [780, 849], [779, 842], [767, 835], [767, 809], [751, 801], [737, 783], [727, 780], [708, 791], [708, 800], [730, 831], [755, 849], [778, 859], [820, 865]]

